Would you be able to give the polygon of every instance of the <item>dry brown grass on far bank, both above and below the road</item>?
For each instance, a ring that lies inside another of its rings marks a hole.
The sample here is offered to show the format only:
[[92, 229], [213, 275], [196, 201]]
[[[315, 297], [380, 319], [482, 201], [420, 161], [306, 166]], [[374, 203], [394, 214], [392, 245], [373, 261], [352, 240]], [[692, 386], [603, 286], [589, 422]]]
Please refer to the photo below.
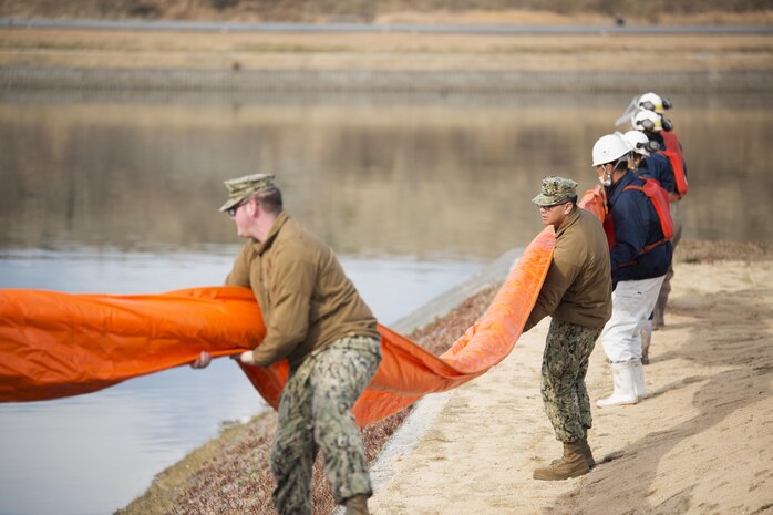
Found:
[[[4, 0], [0, 17], [213, 21], [373, 21], [381, 24], [772, 25], [746, 0], [656, 3], [601, 0]], [[643, 7], [642, 7], [643, 6]], [[663, 13], [668, 13], [668, 16]], [[220, 70], [770, 70], [770, 35], [502, 35], [412, 33], [172, 33], [0, 28], [0, 66]], [[646, 54], [645, 54], [646, 53]], [[648, 59], [668, 55], [669, 59]]]

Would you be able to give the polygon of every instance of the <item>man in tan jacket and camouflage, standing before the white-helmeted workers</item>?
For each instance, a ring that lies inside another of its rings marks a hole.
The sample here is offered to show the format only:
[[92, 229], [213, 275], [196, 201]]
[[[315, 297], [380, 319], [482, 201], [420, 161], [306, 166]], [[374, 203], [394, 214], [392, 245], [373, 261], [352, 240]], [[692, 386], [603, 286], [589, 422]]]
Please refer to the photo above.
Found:
[[599, 220], [577, 207], [577, 183], [545, 177], [539, 206], [556, 230], [550, 268], [524, 331], [550, 316], [543, 354], [542, 395], [564, 455], [534, 471], [535, 480], [566, 480], [595, 465], [587, 430], [592, 424], [585, 388], [588, 358], [612, 310], [609, 247]]

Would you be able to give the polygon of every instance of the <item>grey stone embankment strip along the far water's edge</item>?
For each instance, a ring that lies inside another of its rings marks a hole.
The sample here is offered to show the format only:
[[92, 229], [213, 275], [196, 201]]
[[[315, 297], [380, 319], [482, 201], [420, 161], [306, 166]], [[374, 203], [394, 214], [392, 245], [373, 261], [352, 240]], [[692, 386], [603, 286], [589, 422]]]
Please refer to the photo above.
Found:
[[4, 91], [181, 91], [255, 93], [526, 93], [637, 91], [646, 83], [676, 93], [766, 92], [773, 70], [705, 72], [552, 72], [400, 70], [192, 70], [2, 66]]

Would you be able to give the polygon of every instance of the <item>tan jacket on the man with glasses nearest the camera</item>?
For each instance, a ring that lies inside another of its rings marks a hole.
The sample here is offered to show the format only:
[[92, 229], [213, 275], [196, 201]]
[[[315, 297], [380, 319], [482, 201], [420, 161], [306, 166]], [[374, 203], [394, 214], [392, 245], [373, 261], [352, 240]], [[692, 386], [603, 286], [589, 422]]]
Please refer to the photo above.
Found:
[[286, 213], [266, 241], [241, 248], [226, 284], [251, 288], [260, 305], [266, 338], [254, 350], [260, 365], [287, 358], [295, 369], [346, 336], [381, 338], [333, 251]]

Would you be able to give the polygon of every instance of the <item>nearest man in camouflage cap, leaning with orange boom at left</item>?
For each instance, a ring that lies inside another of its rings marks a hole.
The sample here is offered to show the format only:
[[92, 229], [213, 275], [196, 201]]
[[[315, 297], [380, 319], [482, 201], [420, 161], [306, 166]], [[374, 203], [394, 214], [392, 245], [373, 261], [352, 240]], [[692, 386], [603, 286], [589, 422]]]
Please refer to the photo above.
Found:
[[[264, 341], [239, 360], [290, 364], [270, 460], [274, 505], [282, 515], [311, 514], [311, 471], [321, 451], [336, 502], [347, 515], [367, 515], [372, 490], [350, 409], [381, 361], [375, 319], [332, 250], [282, 210], [272, 175], [225, 184], [229, 198], [220, 212], [248, 240], [226, 284], [252, 289], [266, 325]], [[209, 359], [203, 356], [194, 367]]]

